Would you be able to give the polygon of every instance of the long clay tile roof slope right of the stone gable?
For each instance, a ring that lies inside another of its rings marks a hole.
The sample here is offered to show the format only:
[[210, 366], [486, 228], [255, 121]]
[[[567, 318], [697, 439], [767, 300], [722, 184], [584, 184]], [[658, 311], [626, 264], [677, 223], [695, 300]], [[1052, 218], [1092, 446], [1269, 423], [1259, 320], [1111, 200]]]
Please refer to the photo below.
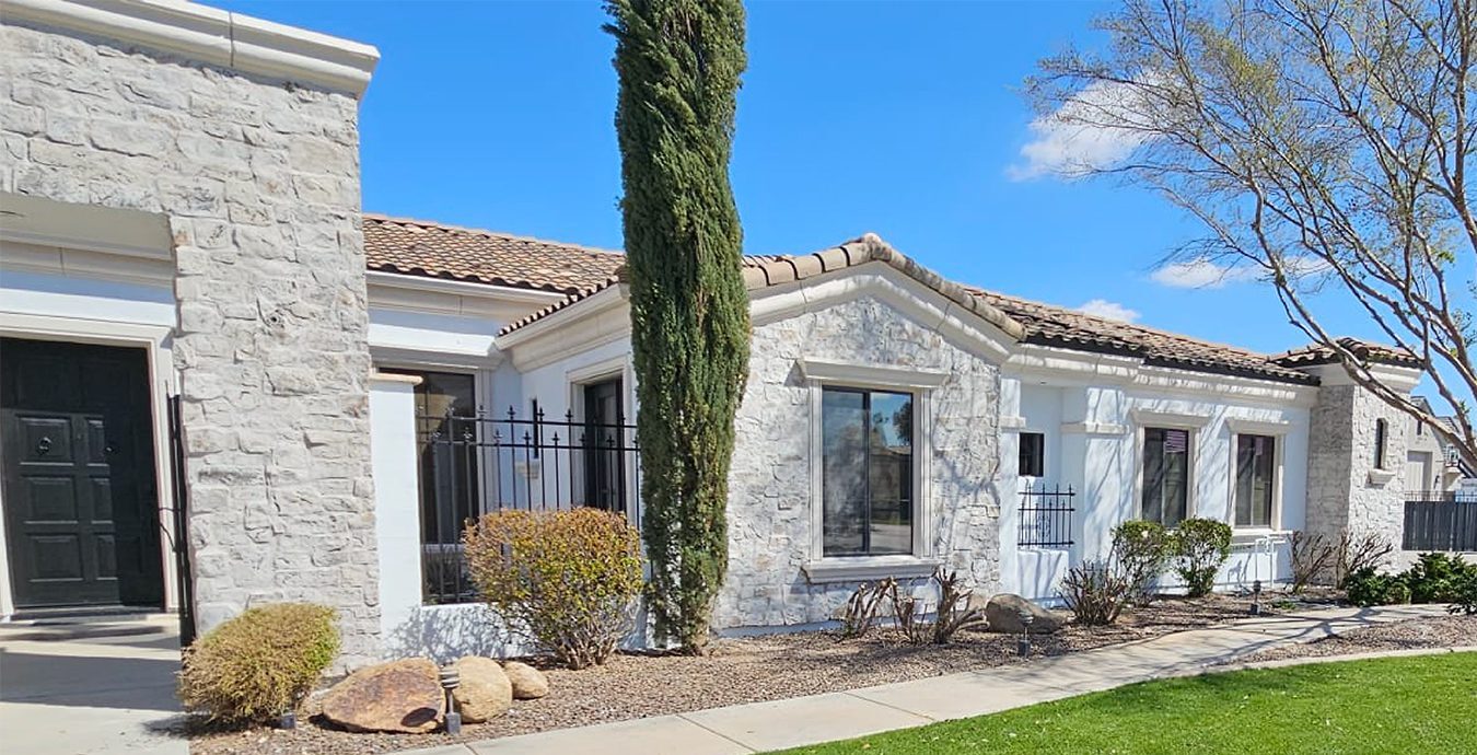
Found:
[[1058, 346], [1080, 352], [1137, 356], [1149, 365], [1198, 372], [1217, 372], [1284, 383], [1316, 384], [1317, 378], [1275, 362], [1275, 358], [1220, 343], [1202, 341], [1176, 332], [1128, 322], [1097, 318], [1074, 309], [1043, 304], [982, 288], [970, 291], [1019, 321], [1027, 343]]

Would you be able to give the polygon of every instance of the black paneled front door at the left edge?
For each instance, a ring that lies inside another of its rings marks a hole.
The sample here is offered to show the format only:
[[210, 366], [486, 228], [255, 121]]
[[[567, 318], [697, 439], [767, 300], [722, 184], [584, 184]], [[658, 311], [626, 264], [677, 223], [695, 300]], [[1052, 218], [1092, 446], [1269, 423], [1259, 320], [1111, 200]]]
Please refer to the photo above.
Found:
[[142, 349], [0, 338], [0, 483], [18, 609], [164, 604]]

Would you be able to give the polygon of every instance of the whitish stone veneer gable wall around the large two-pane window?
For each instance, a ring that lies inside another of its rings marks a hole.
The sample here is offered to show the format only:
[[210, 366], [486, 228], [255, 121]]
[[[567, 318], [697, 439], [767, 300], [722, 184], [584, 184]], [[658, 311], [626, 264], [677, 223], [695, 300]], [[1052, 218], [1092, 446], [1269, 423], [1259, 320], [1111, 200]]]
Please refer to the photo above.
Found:
[[933, 556], [994, 590], [1000, 581], [997, 465], [1000, 380], [994, 365], [874, 298], [755, 327], [749, 383], [736, 418], [728, 485], [728, 578], [716, 628], [833, 619], [858, 582], [811, 584], [811, 383], [796, 361], [948, 372], [928, 402], [925, 474]]

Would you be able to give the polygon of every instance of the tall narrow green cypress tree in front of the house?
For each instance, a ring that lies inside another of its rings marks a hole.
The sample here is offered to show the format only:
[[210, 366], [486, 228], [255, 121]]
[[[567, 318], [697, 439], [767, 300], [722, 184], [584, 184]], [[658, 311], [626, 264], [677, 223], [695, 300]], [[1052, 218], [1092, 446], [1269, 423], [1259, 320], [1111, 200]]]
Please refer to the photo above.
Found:
[[728, 465], [749, 366], [749, 297], [728, 183], [744, 55], [740, 0], [609, 0], [620, 98], [647, 603], [702, 653], [728, 564]]

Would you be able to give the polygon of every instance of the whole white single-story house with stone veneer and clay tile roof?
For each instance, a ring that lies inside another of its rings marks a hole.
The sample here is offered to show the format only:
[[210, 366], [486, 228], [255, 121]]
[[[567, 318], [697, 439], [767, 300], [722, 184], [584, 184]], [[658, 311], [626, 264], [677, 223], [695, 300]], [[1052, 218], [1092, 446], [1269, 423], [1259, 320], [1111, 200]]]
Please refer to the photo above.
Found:
[[[640, 522], [623, 257], [362, 214], [374, 49], [198, 4], [0, 22], [0, 613], [183, 587], [204, 628], [316, 600], [346, 665], [446, 656], [501, 641], [462, 520]], [[1230, 523], [1226, 588], [1285, 578], [1294, 529], [1400, 538], [1409, 423], [1331, 353], [982, 291], [871, 235], [743, 275], [722, 631], [826, 622], [935, 566], [1050, 600], [1136, 517]]]

